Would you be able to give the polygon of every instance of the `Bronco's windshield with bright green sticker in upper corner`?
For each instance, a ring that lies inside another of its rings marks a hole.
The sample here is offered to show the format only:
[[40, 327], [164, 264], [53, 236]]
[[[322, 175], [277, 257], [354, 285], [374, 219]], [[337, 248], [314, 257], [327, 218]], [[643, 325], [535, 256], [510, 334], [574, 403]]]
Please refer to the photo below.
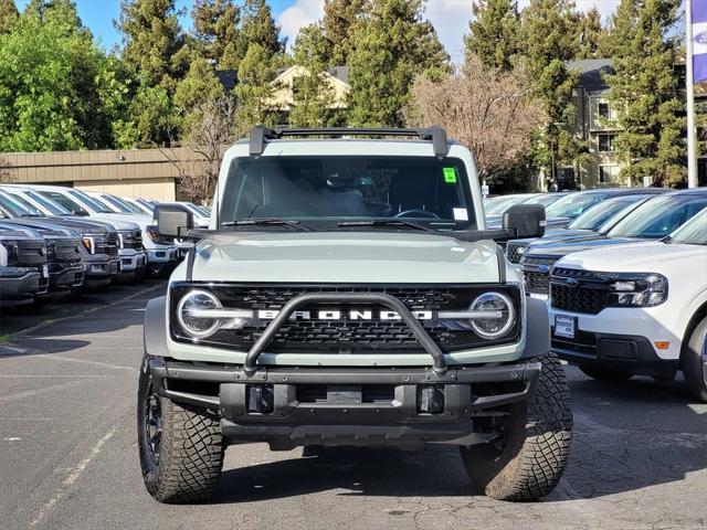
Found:
[[409, 221], [442, 230], [476, 227], [465, 165], [453, 158], [236, 158], [220, 221], [246, 219], [302, 220], [309, 226], [374, 220], [383, 226]]

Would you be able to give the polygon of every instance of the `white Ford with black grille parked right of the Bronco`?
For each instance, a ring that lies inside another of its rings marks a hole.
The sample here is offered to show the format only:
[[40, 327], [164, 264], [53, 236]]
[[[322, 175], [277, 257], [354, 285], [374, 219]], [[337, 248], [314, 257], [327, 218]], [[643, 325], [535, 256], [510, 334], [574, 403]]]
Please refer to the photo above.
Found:
[[659, 242], [563, 257], [550, 299], [560, 358], [600, 380], [682, 370], [707, 402], [707, 209]]

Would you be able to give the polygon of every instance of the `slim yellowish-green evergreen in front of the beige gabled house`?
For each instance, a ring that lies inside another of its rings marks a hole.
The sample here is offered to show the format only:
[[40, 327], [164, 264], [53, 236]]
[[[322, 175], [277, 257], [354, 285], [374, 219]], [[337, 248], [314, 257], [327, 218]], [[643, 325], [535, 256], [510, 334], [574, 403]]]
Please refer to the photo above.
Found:
[[295, 63], [303, 75], [295, 78], [294, 103], [289, 125], [294, 127], [327, 127], [337, 125], [340, 112], [335, 110], [335, 93], [329, 84], [327, 62], [329, 41], [320, 25], [303, 28], [295, 41]]

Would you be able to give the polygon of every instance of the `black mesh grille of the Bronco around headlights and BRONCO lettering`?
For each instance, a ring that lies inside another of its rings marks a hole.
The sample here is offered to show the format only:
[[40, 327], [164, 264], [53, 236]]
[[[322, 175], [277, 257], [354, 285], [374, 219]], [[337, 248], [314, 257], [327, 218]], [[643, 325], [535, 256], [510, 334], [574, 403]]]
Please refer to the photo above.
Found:
[[[194, 284], [176, 284], [170, 292], [172, 315], [181, 297]], [[203, 286], [198, 285], [199, 288]], [[503, 292], [514, 301], [516, 315], [519, 314], [520, 289], [515, 286], [458, 286], [458, 287], [378, 287], [378, 286], [208, 286], [217, 295], [223, 307], [240, 309], [270, 309], [278, 310], [293, 298], [308, 293], [384, 293], [402, 301], [412, 311], [464, 311], [472, 301], [482, 293], [489, 290]], [[336, 307], [336, 309], [371, 309], [376, 315], [383, 307], [358, 306]], [[335, 309], [331, 304], [315, 305], [312, 308], [303, 308], [313, 315], [323, 309]], [[221, 329], [200, 343], [215, 347], [232, 348], [240, 351], [249, 350], [257, 338], [265, 331], [271, 320], [254, 319], [241, 329]], [[516, 322], [514, 329], [502, 340], [488, 341], [479, 338], [472, 330], [468, 321], [449, 320], [421, 320], [425, 331], [439, 344], [443, 351], [456, 351], [472, 349], [481, 346], [494, 346], [510, 343], [518, 340], [520, 324]], [[181, 330], [176, 319], [171, 319], [171, 333], [176, 340], [189, 341], [191, 339]], [[300, 319], [288, 320], [275, 335], [273, 341], [266, 348], [272, 352], [296, 351], [321, 352], [366, 352], [366, 351], [420, 351], [424, 349], [418, 342], [412, 330], [401, 320], [354, 320], [348, 318], [348, 311], [341, 310], [337, 319]]]

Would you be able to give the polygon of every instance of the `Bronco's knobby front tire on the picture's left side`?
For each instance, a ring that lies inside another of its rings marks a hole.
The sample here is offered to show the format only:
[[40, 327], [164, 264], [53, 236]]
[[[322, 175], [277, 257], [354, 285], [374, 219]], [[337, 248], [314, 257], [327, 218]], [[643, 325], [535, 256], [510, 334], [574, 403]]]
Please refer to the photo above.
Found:
[[155, 464], [145, 437], [145, 400], [150, 385], [151, 378], [143, 362], [137, 430], [145, 487], [160, 502], [209, 500], [221, 476], [225, 448], [219, 420], [202, 407], [158, 398], [162, 434], [159, 459]]

